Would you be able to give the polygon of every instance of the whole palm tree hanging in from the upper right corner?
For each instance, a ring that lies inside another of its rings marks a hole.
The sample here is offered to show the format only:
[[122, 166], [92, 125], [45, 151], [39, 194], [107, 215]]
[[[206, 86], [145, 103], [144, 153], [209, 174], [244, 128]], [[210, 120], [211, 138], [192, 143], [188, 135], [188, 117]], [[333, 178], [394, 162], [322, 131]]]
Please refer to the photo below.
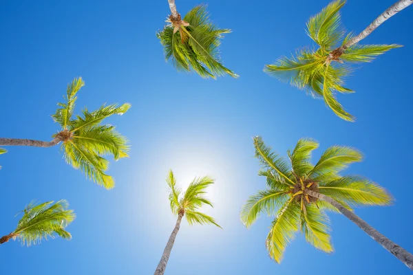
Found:
[[[402, 0], [386, 10], [395, 13], [401, 9], [403, 3], [412, 0]], [[388, 14], [384, 12], [359, 36], [351, 32], [346, 34], [341, 25], [340, 10], [346, 0], [333, 1], [321, 10], [319, 14], [311, 17], [307, 22], [307, 34], [315, 43], [315, 47], [303, 47], [296, 52], [296, 56], [288, 58], [282, 56], [274, 64], [266, 65], [264, 72], [275, 76], [279, 80], [290, 82], [291, 85], [304, 89], [314, 98], [324, 98], [326, 105], [335, 112], [339, 118], [354, 121], [335, 98], [337, 92], [342, 94], [354, 93], [351, 89], [343, 87], [344, 80], [352, 72], [353, 63], [371, 62], [376, 56], [400, 45], [359, 45], [362, 38], [366, 37], [366, 30], [374, 30], [378, 23], [382, 23]], [[362, 35], [363, 34], [363, 35]], [[335, 49], [339, 46], [337, 49]], [[334, 61], [334, 62], [333, 62]]]

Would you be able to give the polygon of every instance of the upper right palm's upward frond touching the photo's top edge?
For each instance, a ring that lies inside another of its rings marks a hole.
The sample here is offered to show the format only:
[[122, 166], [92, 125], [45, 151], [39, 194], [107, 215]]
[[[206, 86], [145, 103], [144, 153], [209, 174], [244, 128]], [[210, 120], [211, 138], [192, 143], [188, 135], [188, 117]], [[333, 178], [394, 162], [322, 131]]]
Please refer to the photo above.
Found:
[[345, 3], [345, 0], [332, 1], [307, 22], [308, 36], [326, 50], [332, 50], [343, 39], [345, 33], [341, 27], [339, 10]]

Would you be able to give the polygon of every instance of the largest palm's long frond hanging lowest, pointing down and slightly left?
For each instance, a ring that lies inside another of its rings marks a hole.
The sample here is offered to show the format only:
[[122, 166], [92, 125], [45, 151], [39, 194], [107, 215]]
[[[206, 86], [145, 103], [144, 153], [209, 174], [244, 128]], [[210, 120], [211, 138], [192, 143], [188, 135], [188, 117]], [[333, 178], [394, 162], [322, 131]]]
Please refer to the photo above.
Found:
[[299, 204], [289, 200], [279, 209], [277, 217], [271, 224], [266, 238], [266, 249], [271, 259], [277, 263], [281, 263], [286, 246], [293, 241], [299, 230], [299, 214]]

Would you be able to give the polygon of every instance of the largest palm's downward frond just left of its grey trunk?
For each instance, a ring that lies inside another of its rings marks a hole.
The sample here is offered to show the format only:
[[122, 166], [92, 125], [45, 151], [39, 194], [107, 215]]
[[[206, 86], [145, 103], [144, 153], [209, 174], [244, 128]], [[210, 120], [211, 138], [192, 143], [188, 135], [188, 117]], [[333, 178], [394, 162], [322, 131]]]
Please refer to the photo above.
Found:
[[301, 230], [306, 241], [321, 251], [332, 252], [328, 216], [313, 204], [306, 204], [305, 208], [306, 210], [301, 212]]

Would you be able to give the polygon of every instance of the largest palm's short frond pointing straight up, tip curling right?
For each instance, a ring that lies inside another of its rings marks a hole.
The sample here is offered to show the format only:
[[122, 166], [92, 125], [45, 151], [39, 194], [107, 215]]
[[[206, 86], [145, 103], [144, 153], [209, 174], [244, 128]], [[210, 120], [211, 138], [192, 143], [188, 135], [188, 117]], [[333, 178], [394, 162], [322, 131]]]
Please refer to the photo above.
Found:
[[307, 175], [314, 166], [311, 164], [311, 152], [317, 149], [319, 143], [310, 138], [301, 138], [295, 146], [293, 153], [288, 151], [291, 166], [298, 177]]

